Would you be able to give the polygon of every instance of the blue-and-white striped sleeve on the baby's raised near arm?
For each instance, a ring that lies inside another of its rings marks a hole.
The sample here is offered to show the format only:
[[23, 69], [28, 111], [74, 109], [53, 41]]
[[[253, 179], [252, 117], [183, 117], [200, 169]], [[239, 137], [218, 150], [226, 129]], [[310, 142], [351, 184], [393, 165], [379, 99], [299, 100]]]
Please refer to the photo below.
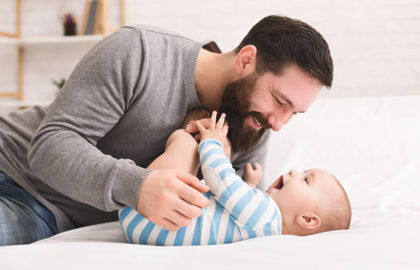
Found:
[[[235, 174], [223, 153], [222, 144], [205, 139], [198, 146], [202, 175], [214, 199], [231, 214], [233, 221], [248, 231], [255, 229], [281, 230], [279, 207], [261, 190], [250, 188]], [[272, 226], [272, 225], [275, 226]]]

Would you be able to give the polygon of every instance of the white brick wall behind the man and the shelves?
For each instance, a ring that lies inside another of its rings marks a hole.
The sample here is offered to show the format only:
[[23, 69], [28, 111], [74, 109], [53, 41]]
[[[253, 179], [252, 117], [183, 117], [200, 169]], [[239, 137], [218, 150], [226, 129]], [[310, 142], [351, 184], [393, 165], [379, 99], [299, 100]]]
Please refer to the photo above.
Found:
[[[119, 23], [119, 0], [110, 24]], [[259, 19], [283, 14], [314, 26], [327, 40], [334, 83], [324, 96], [420, 94], [420, 0], [126, 0], [127, 24], [173, 30], [197, 41], [233, 49]], [[82, 14], [84, 0], [22, 0], [23, 36], [62, 33], [59, 14]], [[14, 1], [0, 0], [0, 31], [14, 31]], [[51, 80], [67, 77], [86, 45], [25, 50], [25, 97], [54, 98]], [[16, 47], [0, 45], [0, 91], [16, 91]]]

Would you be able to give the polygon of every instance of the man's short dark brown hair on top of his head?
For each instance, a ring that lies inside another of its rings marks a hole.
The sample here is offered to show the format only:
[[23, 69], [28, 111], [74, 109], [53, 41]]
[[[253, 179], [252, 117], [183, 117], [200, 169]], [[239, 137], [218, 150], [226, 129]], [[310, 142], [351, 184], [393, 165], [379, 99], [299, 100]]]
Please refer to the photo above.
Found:
[[331, 87], [334, 65], [328, 44], [307, 23], [286, 16], [266, 16], [251, 28], [235, 53], [246, 45], [257, 47], [257, 74], [270, 71], [279, 75], [285, 67], [296, 64], [325, 87]]

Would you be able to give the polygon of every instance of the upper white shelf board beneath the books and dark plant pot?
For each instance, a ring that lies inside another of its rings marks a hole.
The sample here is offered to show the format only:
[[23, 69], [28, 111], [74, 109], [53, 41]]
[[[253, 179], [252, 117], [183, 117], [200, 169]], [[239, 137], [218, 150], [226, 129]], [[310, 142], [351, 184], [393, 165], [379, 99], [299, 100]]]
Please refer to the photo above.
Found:
[[69, 44], [95, 44], [102, 40], [104, 36], [80, 35], [80, 36], [36, 36], [27, 38], [0, 38], [0, 45], [21, 45], [30, 47], [32, 45], [69, 45]]

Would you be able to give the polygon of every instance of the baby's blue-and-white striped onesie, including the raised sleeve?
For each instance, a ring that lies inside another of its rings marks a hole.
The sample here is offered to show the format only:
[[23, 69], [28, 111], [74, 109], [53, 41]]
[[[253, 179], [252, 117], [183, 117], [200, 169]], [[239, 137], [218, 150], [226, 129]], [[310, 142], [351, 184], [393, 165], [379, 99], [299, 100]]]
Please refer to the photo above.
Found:
[[121, 227], [130, 243], [143, 245], [215, 245], [257, 236], [281, 234], [281, 213], [275, 201], [250, 188], [235, 174], [231, 161], [215, 139], [198, 146], [202, 175], [210, 187], [209, 207], [190, 225], [168, 231], [126, 207], [119, 210]]

